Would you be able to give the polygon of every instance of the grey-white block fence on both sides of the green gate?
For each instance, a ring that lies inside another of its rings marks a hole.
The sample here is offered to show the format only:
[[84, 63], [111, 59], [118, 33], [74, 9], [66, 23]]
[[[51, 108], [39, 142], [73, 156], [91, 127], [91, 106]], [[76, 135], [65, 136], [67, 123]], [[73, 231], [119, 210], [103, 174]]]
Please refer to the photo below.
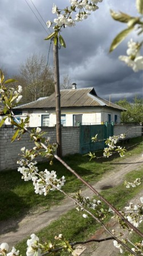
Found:
[[[56, 127], [42, 127], [42, 131], [47, 132], [47, 137], [50, 137], [50, 143], [56, 142]], [[114, 135], [126, 132], [128, 137], [141, 136], [141, 125], [117, 124], [114, 126]], [[21, 148], [30, 149], [34, 146], [28, 133], [25, 133], [21, 140], [15, 140], [11, 143], [13, 134], [14, 131], [11, 125], [6, 127], [3, 125], [0, 128], [0, 171], [17, 168], [17, 160], [20, 157], [18, 154], [21, 152]], [[80, 152], [80, 127], [62, 127], [62, 147], [63, 156]], [[39, 160], [45, 159], [41, 158]]]

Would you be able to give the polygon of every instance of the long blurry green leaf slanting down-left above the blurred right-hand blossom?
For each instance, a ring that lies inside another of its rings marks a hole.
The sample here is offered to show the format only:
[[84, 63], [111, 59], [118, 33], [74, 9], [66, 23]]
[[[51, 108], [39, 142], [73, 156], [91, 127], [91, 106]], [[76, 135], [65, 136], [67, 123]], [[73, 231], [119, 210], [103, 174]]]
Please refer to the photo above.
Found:
[[109, 49], [109, 53], [116, 49], [116, 47], [122, 42], [126, 36], [134, 29], [134, 27], [129, 27], [128, 29], [122, 30], [112, 41], [112, 44]]

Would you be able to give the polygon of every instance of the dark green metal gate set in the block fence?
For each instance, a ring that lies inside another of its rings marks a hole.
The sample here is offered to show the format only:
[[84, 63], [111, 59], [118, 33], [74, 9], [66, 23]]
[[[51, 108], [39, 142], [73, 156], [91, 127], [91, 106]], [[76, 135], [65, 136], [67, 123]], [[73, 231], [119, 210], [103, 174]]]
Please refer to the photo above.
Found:
[[80, 125], [80, 153], [83, 155], [105, 148], [104, 141], [92, 142], [91, 137], [97, 134], [98, 140], [113, 136], [113, 124]]

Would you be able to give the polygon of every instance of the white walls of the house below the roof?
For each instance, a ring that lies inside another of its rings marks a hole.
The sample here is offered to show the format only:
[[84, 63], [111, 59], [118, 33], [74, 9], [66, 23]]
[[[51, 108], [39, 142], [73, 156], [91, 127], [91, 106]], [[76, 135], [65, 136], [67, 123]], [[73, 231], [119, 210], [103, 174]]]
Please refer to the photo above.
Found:
[[[66, 115], [66, 126], [73, 126], [73, 115], [82, 115], [83, 124], [102, 124], [108, 121], [108, 115], [111, 115], [111, 121], [115, 121], [115, 115], [117, 115], [117, 123], [120, 123], [120, 111], [107, 109], [107, 108], [80, 108], [80, 109], [64, 109], [61, 112], [62, 115]], [[46, 111], [40, 109], [34, 109], [32, 111], [22, 111], [22, 119], [30, 116], [29, 127], [42, 126], [42, 115], [49, 115], [50, 127], [54, 127], [56, 124], [56, 114], [54, 110]], [[8, 119], [5, 124], [10, 124]]]

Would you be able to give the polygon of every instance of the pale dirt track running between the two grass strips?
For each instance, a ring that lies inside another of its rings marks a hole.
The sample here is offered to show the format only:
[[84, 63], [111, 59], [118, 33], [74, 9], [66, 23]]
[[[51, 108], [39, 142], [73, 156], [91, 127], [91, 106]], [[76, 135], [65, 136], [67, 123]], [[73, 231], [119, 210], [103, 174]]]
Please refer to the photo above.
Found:
[[[105, 174], [103, 178], [93, 184], [93, 187], [97, 191], [101, 191], [105, 186], [117, 186], [122, 183], [124, 175], [130, 171], [137, 170], [143, 166], [143, 157], [140, 155], [132, 156], [122, 159], [120, 163], [114, 163], [117, 165], [115, 170]], [[88, 188], [82, 191], [84, 196], [91, 197], [93, 195], [92, 191]], [[32, 216], [27, 216], [22, 220], [6, 221], [0, 223], [0, 243], [7, 242], [10, 246], [15, 245], [15, 243], [21, 241], [23, 238], [27, 237], [32, 233], [36, 233], [43, 227], [49, 225], [52, 221], [58, 219], [61, 215], [65, 214], [68, 210], [73, 207], [73, 202], [69, 199], [64, 199], [59, 206], [54, 206], [50, 210], [42, 212], [40, 214], [34, 214]], [[90, 255], [107, 255], [105, 254], [90, 254]]]

